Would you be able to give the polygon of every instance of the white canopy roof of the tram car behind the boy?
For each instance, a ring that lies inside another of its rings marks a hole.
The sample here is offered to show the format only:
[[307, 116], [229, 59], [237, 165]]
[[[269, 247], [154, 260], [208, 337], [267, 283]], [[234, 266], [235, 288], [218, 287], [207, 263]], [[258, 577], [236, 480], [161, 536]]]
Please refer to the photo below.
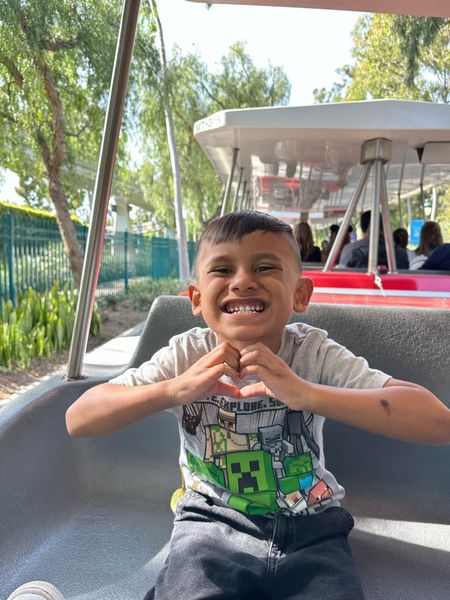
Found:
[[416, 193], [421, 181], [424, 188], [450, 181], [446, 104], [376, 100], [226, 110], [197, 121], [194, 135], [222, 181], [238, 148], [234, 185], [242, 168], [259, 207], [292, 210], [297, 218], [299, 208], [342, 214], [362, 168], [362, 145], [374, 138], [392, 143], [385, 167], [391, 199], [400, 189], [402, 196]]

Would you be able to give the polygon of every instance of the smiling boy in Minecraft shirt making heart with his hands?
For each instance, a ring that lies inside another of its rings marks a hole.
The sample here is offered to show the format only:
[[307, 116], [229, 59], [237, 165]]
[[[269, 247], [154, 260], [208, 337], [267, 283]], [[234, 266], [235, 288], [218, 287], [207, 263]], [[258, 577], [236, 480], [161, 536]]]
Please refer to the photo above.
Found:
[[450, 441], [450, 411], [428, 390], [370, 369], [296, 323], [312, 282], [291, 228], [257, 212], [212, 221], [198, 244], [195, 315], [139, 369], [85, 392], [71, 435], [175, 413], [186, 493], [150, 599], [362, 599], [344, 490], [326, 470], [324, 417], [404, 440]]

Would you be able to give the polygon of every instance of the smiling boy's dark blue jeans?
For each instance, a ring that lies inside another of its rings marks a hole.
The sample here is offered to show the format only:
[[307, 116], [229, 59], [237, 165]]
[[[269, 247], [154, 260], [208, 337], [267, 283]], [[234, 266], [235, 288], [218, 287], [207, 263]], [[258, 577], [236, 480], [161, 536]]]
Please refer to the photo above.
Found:
[[145, 600], [364, 600], [339, 507], [311, 516], [248, 516], [188, 492], [170, 551]]

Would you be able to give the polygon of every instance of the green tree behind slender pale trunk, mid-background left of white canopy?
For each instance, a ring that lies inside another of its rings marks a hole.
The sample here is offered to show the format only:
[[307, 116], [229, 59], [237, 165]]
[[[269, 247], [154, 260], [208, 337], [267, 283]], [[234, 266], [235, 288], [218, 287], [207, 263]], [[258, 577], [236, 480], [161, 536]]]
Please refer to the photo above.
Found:
[[[168, 64], [169, 89], [176, 144], [180, 159], [183, 207], [189, 234], [196, 237], [203, 224], [220, 210], [221, 183], [193, 136], [199, 119], [223, 109], [286, 104], [290, 85], [280, 67], [257, 68], [243, 43], [230, 47], [212, 73], [195, 53], [175, 48]], [[152, 212], [174, 227], [170, 162], [165, 139], [160, 93], [143, 77], [142, 123], [151, 135], [144, 140], [140, 181]]]

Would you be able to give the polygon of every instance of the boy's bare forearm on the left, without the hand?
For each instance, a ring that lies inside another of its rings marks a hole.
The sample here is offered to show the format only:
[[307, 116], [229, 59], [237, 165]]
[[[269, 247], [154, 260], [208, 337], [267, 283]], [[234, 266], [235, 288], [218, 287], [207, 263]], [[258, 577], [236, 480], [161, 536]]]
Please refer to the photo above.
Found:
[[170, 380], [134, 387], [104, 383], [70, 406], [67, 431], [74, 437], [105, 435], [173, 405]]

